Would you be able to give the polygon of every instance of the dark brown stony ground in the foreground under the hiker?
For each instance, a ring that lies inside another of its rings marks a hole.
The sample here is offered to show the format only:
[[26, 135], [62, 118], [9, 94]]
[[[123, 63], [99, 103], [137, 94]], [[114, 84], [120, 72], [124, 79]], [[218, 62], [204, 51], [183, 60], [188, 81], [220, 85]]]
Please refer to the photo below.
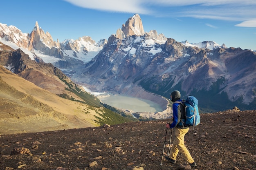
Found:
[[[0, 170], [190, 169], [180, 155], [176, 164], [162, 161], [167, 121], [0, 135]], [[170, 136], [168, 129], [164, 157]], [[256, 170], [255, 136], [256, 110], [229, 110], [201, 114], [185, 142], [193, 169]]]

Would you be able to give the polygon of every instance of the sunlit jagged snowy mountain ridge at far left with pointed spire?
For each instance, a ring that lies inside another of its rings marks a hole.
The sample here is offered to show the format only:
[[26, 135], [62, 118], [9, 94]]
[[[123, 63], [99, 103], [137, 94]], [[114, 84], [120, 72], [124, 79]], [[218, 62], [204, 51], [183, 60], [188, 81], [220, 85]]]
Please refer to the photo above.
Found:
[[39, 27], [38, 22], [31, 33], [22, 33], [15, 26], [0, 24], [0, 41], [13, 49], [22, 49], [32, 60], [40, 58], [59, 68], [73, 68], [90, 61], [107, 42], [103, 39], [96, 43], [89, 36], [55, 42], [50, 33]]

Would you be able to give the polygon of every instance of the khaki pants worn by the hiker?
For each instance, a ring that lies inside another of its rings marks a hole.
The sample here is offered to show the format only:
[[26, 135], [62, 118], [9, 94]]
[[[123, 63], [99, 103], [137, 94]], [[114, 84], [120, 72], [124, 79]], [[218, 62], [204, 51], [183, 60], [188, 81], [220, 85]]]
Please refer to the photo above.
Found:
[[179, 129], [175, 127], [175, 138], [173, 141], [173, 147], [171, 148], [171, 152], [169, 155], [169, 158], [176, 160], [178, 152], [180, 151], [182, 157], [188, 162], [193, 163], [194, 159], [191, 157], [188, 149], [184, 145], [184, 137], [186, 133], [189, 131], [189, 128], [187, 129]]

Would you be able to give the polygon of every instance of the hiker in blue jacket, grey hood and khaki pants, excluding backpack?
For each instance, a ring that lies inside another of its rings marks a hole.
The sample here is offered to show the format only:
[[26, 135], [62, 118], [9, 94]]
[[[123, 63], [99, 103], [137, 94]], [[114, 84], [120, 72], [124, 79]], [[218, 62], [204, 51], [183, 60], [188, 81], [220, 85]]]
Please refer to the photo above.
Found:
[[[173, 91], [170, 97], [172, 102], [182, 101], [180, 99], [180, 91]], [[173, 123], [167, 123], [166, 128], [175, 128], [175, 138], [173, 141], [173, 147], [171, 148], [170, 155], [166, 156], [165, 158], [171, 163], [176, 163], [178, 152], [180, 152], [182, 157], [189, 163], [191, 167], [196, 167], [197, 165], [194, 159], [191, 157], [188, 149], [184, 145], [184, 137], [186, 133], [189, 131], [189, 127], [183, 127], [182, 124], [179, 124], [181, 119], [184, 119], [184, 117], [185, 113], [182, 104], [173, 103]]]

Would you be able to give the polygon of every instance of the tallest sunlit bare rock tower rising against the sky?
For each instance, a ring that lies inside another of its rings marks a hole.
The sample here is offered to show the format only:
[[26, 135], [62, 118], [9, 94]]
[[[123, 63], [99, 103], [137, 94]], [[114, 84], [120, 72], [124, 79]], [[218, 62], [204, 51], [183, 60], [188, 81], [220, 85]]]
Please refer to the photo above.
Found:
[[144, 35], [145, 32], [139, 14], [130, 17], [126, 23], [122, 25], [121, 31], [124, 32], [126, 37], [130, 35]]

